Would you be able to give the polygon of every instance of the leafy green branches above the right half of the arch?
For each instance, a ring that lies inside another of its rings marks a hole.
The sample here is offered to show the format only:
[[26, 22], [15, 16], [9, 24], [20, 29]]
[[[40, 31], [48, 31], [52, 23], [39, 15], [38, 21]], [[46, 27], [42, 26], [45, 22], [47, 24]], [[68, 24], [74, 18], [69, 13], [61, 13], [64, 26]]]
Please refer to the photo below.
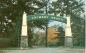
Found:
[[52, 2], [52, 7], [50, 7], [50, 13], [54, 13], [54, 15], [72, 15], [72, 14], [81, 14], [84, 12], [83, 1], [76, 0], [57, 0], [56, 2]]

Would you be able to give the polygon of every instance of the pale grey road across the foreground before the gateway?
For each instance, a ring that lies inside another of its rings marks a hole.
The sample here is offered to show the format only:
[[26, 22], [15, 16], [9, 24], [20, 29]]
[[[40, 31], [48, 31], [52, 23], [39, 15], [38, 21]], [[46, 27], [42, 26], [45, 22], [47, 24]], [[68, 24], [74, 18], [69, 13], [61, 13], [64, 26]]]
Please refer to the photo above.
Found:
[[85, 53], [82, 48], [34, 48], [27, 50], [3, 50], [0, 53]]

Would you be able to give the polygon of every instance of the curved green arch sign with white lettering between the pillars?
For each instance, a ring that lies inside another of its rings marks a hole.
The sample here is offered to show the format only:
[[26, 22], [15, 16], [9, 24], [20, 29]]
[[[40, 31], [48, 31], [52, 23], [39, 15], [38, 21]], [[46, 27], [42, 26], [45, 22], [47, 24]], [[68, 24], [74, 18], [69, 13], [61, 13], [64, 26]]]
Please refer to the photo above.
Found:
[[27, 16], [28, 21], [41, 20], [41, 19], [55, 20], [63, 23], [67, 22], [66, 18], [63, 16], [55, 16], [55, 15], [28, 15]]

